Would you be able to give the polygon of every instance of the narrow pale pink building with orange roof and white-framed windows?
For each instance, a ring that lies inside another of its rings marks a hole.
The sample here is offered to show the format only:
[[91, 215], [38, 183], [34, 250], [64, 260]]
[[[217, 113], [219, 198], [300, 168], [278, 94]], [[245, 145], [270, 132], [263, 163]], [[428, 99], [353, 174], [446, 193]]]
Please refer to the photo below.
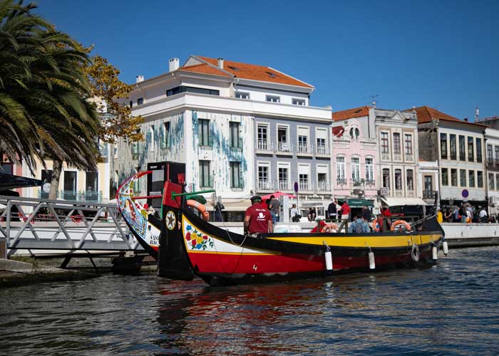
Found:
[[333, 120], [334, 197], [350, 199], [353, 206], [376, 206], [379, 155], [369, 107], [333, 112]]

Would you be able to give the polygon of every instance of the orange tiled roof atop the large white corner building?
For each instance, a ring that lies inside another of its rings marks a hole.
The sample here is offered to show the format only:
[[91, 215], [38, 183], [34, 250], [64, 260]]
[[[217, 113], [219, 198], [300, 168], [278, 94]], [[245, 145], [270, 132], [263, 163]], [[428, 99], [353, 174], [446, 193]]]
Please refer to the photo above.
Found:
[[[212, 66], [217, 66], [217, 59], [208, 57], [196, 56], [202, 61], [212, 64]], [[257, 66], [254, 64], [240, 63], [224, 60], [224, 70], [231, 73], [237, 78], [249, 79], [249, 80], [260, 80], [263, 82], [279, 83], [287, 85], [297, 85], [304, 88], [314, 88], [312, 85], [302, 82], [301, 80], [295, 79], [281, 73], [275, 69]]]

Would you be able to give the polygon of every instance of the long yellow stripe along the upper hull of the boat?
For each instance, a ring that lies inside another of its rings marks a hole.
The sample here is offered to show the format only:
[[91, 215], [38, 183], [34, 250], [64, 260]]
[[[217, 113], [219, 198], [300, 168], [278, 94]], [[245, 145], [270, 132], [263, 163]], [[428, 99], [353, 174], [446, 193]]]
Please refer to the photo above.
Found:
[[[339, 247], [404, 247], [411, 246], [412, 244], [422, 245], [436, 242], [441, 239], [441, 235], [394, 235], [394, 236], [376, 236], [371, 234], [367, 236], [324, 236], [317, 234], [315, 236], [299, 236], [299, 237], [267, 237], [267, 239], [294, 242], [295, 244], [310, 244], [322, 245], [324, 242], [329, 246]], [[324, 242], [323, 242], [324, 241]]]

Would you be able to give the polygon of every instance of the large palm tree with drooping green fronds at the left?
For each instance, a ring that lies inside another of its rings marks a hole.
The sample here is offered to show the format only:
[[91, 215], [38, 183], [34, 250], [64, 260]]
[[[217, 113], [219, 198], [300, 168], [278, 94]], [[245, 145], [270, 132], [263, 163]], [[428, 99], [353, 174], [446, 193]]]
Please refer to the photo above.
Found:
[[31, 170], [52, 159], [55, 199], [63, 161], [95, 169], [100, 119], [87, 100], [86, 53], [32, 9], [0, 0], [0, 150]]

